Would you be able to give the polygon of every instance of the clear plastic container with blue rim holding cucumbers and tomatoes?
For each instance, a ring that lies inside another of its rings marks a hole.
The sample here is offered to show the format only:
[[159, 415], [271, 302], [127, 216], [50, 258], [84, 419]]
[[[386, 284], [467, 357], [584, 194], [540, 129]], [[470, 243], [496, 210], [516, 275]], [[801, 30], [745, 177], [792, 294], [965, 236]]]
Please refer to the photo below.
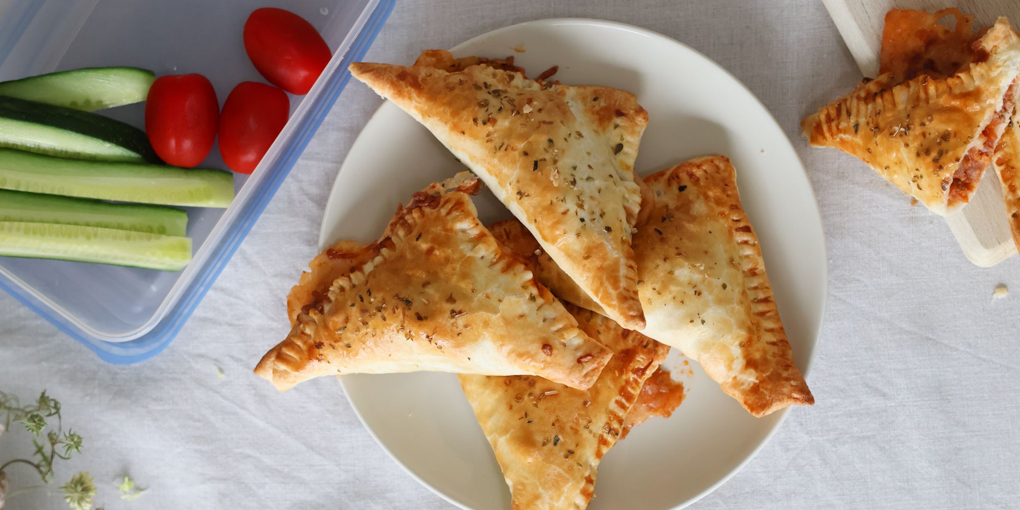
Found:
[[[220, 104], [235, 85], [264, 80], [245, 53], [248, 14], [278, 6], [309, 20], [334, 50], [251, 175], [235, 174], [227, 209], [189, 208], [194, 258], [182, 271], [0, 257], [0, 289], [111, 363], [155, 356], [181, 329], [248, 234], [393, 10], [395, 0], [13, 0], [0, 4], [0, 80], [133, 65], [157, 75], [199, 72]], [[101, 113], [142, 126], [144, 105]], [[204, 165], [225, 168], [218, 152]]]

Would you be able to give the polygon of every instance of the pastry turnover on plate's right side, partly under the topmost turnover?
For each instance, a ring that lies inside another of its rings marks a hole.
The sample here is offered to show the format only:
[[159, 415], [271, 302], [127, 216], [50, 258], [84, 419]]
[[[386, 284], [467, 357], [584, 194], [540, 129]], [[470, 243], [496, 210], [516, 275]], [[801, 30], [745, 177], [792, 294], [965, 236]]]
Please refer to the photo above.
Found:
[[[794, 363], [729, 159], [696, 158], [649, 175], [645, 184], [655, 198], [633, 240], [638, 293], [648, 321], [641, 333], [701, 363], [755, 416], [813, 404]], [[554, 294], [566, 300], [577, 295], [519, 224], [510, 220], [491, 228], [501, 246], [536, 267], [539, 280]]]

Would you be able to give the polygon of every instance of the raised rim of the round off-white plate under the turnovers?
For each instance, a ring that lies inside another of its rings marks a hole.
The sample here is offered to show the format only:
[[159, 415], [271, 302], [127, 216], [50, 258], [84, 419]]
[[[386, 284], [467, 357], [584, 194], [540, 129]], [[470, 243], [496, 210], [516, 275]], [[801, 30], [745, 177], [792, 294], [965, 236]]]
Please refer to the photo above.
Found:
[[[804, 161], [801, 160], [800, 154], [797, 153], [797, 150], [794, 147], [793, 141], [789, 139], [788, 136], [786, 136], [785, 131], [782, 130], [782, 125], [778, 122], [778, 120], [776, 120], [775, 115], [772, 114], [772, 111], [768, 109], [768, 107], [765, 105], [765, 103], [763, 103], [761, 101], [761, 99], [753, 91], [751, 91], [751, 89], [749, 89], [747, 85], [744, 84], [744, 82], [742, 82], [740, 79], [737, 79], [732, 72], [730, 72], [728, 69], [726, 69], [725, 67], [723, 67], [721, 64], [719, 64], [715, 60], [712, 60], [711, 58], [709, 58], [708, 56], [706, 56], [704, 53], [702, 53], [702, 52], [696, 50], [695, 48], [692, 48], [691, 46], [688, 46], [688, 45], [686, 45], [686, 44], [684, 44], [684, 43], [682, 43], [680, 41], [677, 41], [677, 40], [675, 40], [675, 39], [673, 39], [673, 38], [671, 38], [669, 36], [666, 36], [666, 35], [663, 35], [663, 34], [660, 34], [658, 32], [651, 31], [651, 30], [648, 30], [648, 29], [644, 29], [644, 28], [641, 28], [641, 27], [636, 27], [636, 26], [633, 26], [633, 24], [628, 24], [628, 23], [620, 22], [620, 21], [612, 21], [612, 20], [607, 20], [607, 19], [598, 19], [598, 18], [589, 18], [589, 17], [553, 17], [553, 18], [532, 19], [532, 20], [528, 20], [528, 21], [522, 21], [522, 22], [518, 22], [518, 23], [509, 24], [509, 26], [506, 26], [506, 27], [501, 27], [499, 29], [495, 29], [495, 30], [492, 30], [492, 31], [479, 34], [477, 36], [474, 36], [474, 37], [472, 37], [472, 38], [470, 38], [470, 39], [468, 39], [466, 41], [463, 41], [463, 42], [455, 45], [453, 48], [450, 49], [450, 51], [456, 53], [461, 48], [463, 48], [465, 46], [470, 46], [470, 45], [478, 42], [479, 40], [482, 40], [482, 39], [486, 39], [486, 38], [489, 38], [489, 37], [493, 37], [493, 36], [498, 36], [499, 34], [502, 34], [504, 32], [510, 32], [510, 31], [514, 31], [514, 30], [519, 30], [521, 27], [524, 27], [524, 26], [548, 26], [548, 27], [556, 27], [556, 26], [585, 26], [585, 27], [596, 27], [596, 28], [600, 28], [600, 29], [621, 30], [621, 31], [624, 31], [624, 32], [631, 32], [631, 33], [634, 33], [634, 34], [638, 34], [638, 35], [641, 35], [641, 36], [644, 36], [644, 37], [649, 37], [649, 38], [652, 38], [652, 39], [657, 39], [657, 40], [660, 40], [661, 42], [664, 42], [664, 43], [678, 45], [682, 49], [684, 49], [686, 51], [690, 51], [693, 54], [695, 54], [696, 56], [700, 57], [702, 60], [704, 60], [705, 63], [714, 66], [718, 70], [721, 70], [723, 73], [725, 73], [725, 75], [729, 76], [729, 79], [733, 83], [735, 83], [736, 85], [738, 85], [744, 90], [744, 92], [747, 93], [747, 95], [750, 98], [752, 98], [756, 103], [758, 103], [759, 106], [761, 106], [762, 110], [766, 113], [766, 115], [768, 116], [769, 120], [772, 121], [773, 126], [776, 130], [778, 130], [778, 132], [782, 135], [782, 141], [785, 143], [785, 148], [787, 148], [789, 150], [789, 153], [793, 154], [794, 159], [797, 161], [797, 164], [800, 167], [801, 172], [804, 174], [804, 177], [807, 180], [807, 183], [808, 183], [808, 192], [811, 194], [811, 198], [812, 198], [812, 201], [814, 203], [814, 209], [815, 209], [815, 214], [816, 214], [815, 217], [817, 218], [818, 226], [819, 226], [819, 230], [821, 232], [821, 241], [822, 241], [822, 243], [821, 243], [821, 255], [822, 255], [823, 260], [825, 261], [825, 263], [823, 263], [822, 266], [821, 266], [821, 269], [822, 269], [822, 273], [821, 273], [822, 277], [821, 277], [821, 284], [820, 284], [821, 285], [821, 306], [819, 307], [819, 312], [818, 312], [818, 317], [817, 317], [817, 320], [818, 320], [817, 327], [815, 328], [815, 332], [813, 332], [812, 339], [811, 339], [812, 340], [812, 342], [811, 342], [811, 355], [808, 357], [808, 359], [804, 360], [804, 362], [800, 364], [801, 373], [806, 378], [809, 375], [809, 373], [810, 373], [811, 365], [812, 365], [812, 362], [814, 361], [814, 358], [815, 358], [815, 351], [817, 351], [818, 341], [821, 338], [822, 327], [824, 326], [825, 311], [828, 308], [828, 263], [827, 263], [827, 261], [828, 261], [828, 244], [827, 244], [827, 237], [825, 236], [825, 224], [822, 221], [821, 208], [818, 205], [818, 197], [815, 194], [814, 186], [811, 185], [811, 180], [810, 180], [810, 177], [808, 175], [807, 168], [804, 165]], [[378, 116], [379, 113], [382, 111], [384, 107], [386, 107], [389, 102], [390, 101], [384, 100], [382, 103], [378, 106], [378, 108], [376, 108], [375, 111], [372, 112], [372, 114], [368, 117], [368, 119], [365, 121], [364, 125], [367, 125], [376, 116]], [[348, 149], [348, 153], [347, 153], [347, 155], [344, 156], [344, 161], [343, 161], [343, 163], [341, 163], [340, 169], [337, 171], [337, 176], [334, 180], [334, 184], [329, 188], [329, 196], [326, 199], [325, 207], [323, 208], [323, 217], [322, 217], [322, 220], [321, 220], [320, 225], [319, 225], [319, 239], [318, 239], [318, 244], [319, 244], [318, 248], [319, 248], [319, 250], [321, 250], [324, 246], [326, 246], [326, 243], [328, 243], [328, 240], [325, 239], [326, 236], [327, 236], [327, 227], [328, 227], [328, 223], [326, 221], [326, 217], [325, 216], [333, 209], [334, 201], [337, 200], [337, 198], [336, 198], [337, 194], [334, 193], [335, 190], [336, 190], [336, 188], [337, 188], [337, 183], [340, 182], [340, 177], [344, 174], [344, 171], [347, 169], [347, 159], [348, 159], [348, 156], [351, 153], [351, 149], [353, 149], [354, 146], [357, 145], [358, 141], [361, 139], [362, 133], [364, 133], [364, 125], [362, 126], [362, 131], [359, 132], [358, 136], [354, 139], [354, 142], [351, 143], [351, 147]], [[468, 507], [468, 506], [466, 506], [466, 505], [464, 505], [464, 504], [462, 504], [462, 503], [454, 500], [452, 497], [448, 496], [445, 492], [443, 492], [443, 491], [439, 490], [438, 488], [434, 487], [432, 484], [426, 482], [424, 479], [422, 479], [420, 476], [418, 476], [418, 474], [416, 472], [414, 472], [410, 467], [408, 467], [406, 464], [404, 464], [403, 462], [401, 462], [401, 460], [394, 454], [394, 452], [392, 452], [390, 450], [390, 448], [386, 445], [386, 443], [384, 443], [379, 439], [379, 437], [375, 434], [375, 430], [371, 426], [369, 426], [368, 423], [366, 423], [365, 418], [364, 418], [364, 416], [361, 413], [361, 410], [358, 408], [358, 406], [353, 401], [351, 401], [350, 397], [348, 397], [348, 395], [347, 395], [348, 388], [347, 388], [347, 385], [344, 382], [343, 376], [338, 375], [337, 376], [337, 380], [340, 384], [340, 387], [344, 391], [344, 397], [347, 399], [348, 404], [350, 405], [351, 409], [354, 411], [355, 416], [358, 417], [358, 420], [361, 422], [361, 425], [368, 432], [368, 435], [372, 438], [372, 440], [375, 441], [375, 444], [378, 445], [379, 448], [381, 448], [382, 451], [386, 452], [386, 454], [388, 456], [390, 456], [390, 458], [398, 466], [400, 466], [401, 469], [404, 470], [404, 472], [406, 472], [407, 474], [409, 474], [414, 480], [416, 480], [422, 487], [428, 489], [432, 494], [439, 496], [440, 498], [442, 498], [447, 503], [450, 503], [450, 504], [456, 506], [457, 508], [461, 508], [461, 509], [464, 509], [464, 510], [473, 510], [472, 508], [470, 508], [470, 507]], [[732, 478], [733, 475], [735, 475], [737, 472], [740, 472], [742, 469], [744, 469], [744, 467], [747, 466], [752, 460], [754, 460], [754, 458], [758, 456], [758, 453], [761, 452], [761, 450], [763, 448], [765, 448], [765, 446], [772, 440], [772, 438], [775, 436], [775, 434], [779, 430], [779, 428], [782, 426], [782, 424], [786, 421], [786, 418], [788, 417], [789, 411], [792, 409], [793, 409], [793, 407], [785, 407], [785, 408], [780, 409], [779, 411], [776, 411], [775, 413], [773, 413], [773, 414], [778, 415], [778, 419], [775, 420], [775, 422], [771, 425], [771, 428], [765, 434], [765, 436], [762, 438], [762, 440], [759, 442], [759, 444], [756, 445], [755, 448], [743, 460], [741, 460], [738, 463], [736, 463], [723, 476], [719, 477], [718, 480], [716, 480], [714, 483], [712, 483], [708, 488], [702, 490], [697, 495], [695, 495], [694, 497], [687, 499], [686, 501], [684, 501], [684, 502], [682, 502], [682, 503], [680, 503], [680, 504], [678, 504], [676, 506], [673, 506], [672, 510], [680, 510], [680, 509], [685, 508], [685, 507], [687, 507], [687, 506], [690, 506], [690, 505], [692, 505], [694, 503], [697, 503], [701, 499], [705, 498], [709, 494], [712, 494], [717, 489], [719, 489], [720, 487], [722, 487], [723, 483], [729, 481], [729, 479]]]

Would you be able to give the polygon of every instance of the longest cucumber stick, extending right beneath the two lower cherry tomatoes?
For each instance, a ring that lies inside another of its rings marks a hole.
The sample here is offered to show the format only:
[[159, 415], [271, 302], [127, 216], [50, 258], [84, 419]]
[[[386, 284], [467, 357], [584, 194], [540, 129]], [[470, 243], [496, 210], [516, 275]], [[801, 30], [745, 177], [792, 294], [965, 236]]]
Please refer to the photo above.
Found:
[[192, 207], [226, 207], [234, 176], [204, 168], [65, 159], [0, 149], [0, 189]]

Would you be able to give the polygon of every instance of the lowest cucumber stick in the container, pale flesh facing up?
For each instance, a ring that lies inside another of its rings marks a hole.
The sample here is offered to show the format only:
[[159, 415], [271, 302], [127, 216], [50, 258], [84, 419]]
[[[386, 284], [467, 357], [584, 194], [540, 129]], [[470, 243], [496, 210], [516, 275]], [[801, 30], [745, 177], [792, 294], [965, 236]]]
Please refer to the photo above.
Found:
[[58, 223], [0, 221], [0, 256], [50, 258], [176, 271], [191, 239]]

